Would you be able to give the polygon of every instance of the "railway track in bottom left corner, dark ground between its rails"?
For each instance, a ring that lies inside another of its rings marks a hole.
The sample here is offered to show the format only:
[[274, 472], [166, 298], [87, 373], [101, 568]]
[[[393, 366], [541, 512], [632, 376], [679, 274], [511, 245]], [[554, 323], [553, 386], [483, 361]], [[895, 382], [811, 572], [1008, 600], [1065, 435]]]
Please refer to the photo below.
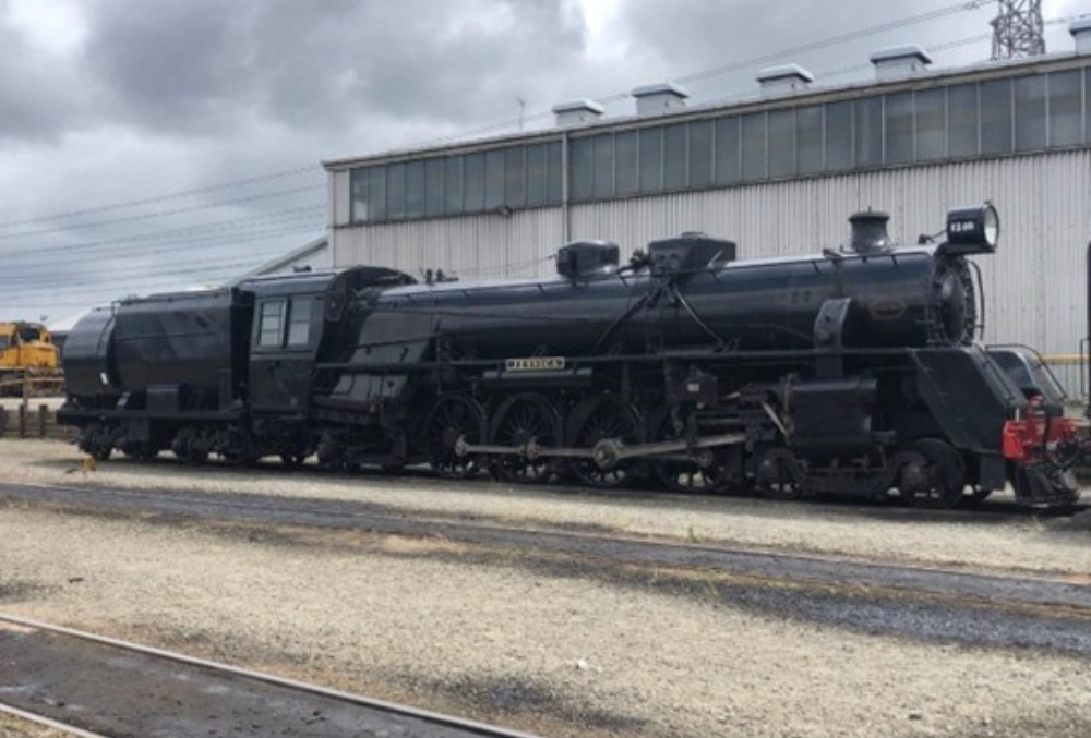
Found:
[[0, 711], [85, 738], [533, 738], [0, 613]]

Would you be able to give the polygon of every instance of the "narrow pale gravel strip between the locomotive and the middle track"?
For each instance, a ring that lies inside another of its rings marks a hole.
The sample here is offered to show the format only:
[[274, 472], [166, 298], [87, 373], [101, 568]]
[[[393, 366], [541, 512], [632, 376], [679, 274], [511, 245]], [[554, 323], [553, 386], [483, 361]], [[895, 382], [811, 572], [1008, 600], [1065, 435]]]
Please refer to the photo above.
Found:
[[[57, 441], [0, 440], [0, 479], [9, 482], [134, 489], [194, 489], [370, 501], [407, 512], [520, 524], [587, 525], [616, 533], [859, 556], [872, 560], [981, 569], [1091, 573], [1091, 512], [1069, 520], [1003, 505], [988, 520], [961, 511], [828, 504], [774, 505], [744, 497], [608, 495], [531, 491], [495, 482], [454, 483], [379, 474], [326, 475], [269, 462], [255, 470], [190, 469], [129, 460], [81, 470], [81, 455]], [[994, 507], [994, 509], [996, 509]], [[971, 519], [972, 518], [972, 519]], [[1075, 522], [1074, 522], [1075, 521]]]

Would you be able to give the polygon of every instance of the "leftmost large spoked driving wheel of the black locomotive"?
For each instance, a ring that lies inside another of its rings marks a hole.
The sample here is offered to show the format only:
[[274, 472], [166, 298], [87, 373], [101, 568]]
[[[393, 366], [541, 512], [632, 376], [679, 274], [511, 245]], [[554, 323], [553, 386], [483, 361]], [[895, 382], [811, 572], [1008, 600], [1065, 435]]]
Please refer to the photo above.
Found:
[[444, 395], [435, 401], [424, 421], [428, 461], [444, 479], [472, 476], [481, 469], [481, 457], [477, 453], [459, 456], [456, 447], [459, 440], [480, 444], [484, 436], [484, 411], [478, 401], [468, 395]]

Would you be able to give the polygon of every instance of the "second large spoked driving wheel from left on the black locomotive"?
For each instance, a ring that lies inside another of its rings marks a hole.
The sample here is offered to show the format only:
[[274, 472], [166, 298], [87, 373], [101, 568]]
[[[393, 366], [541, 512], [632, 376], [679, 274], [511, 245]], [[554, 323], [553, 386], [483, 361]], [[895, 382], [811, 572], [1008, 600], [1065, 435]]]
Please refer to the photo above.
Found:
[[496, 458], [496, 474], [507, 482], [533, 484], [553, 475], [553, 461], [540, 450], [561, 441], [561, 421], [552, 403], [536, 392], [521, 392], [504, 400], [493, 416], [492, 445], [518, 447], [520, 453]]

